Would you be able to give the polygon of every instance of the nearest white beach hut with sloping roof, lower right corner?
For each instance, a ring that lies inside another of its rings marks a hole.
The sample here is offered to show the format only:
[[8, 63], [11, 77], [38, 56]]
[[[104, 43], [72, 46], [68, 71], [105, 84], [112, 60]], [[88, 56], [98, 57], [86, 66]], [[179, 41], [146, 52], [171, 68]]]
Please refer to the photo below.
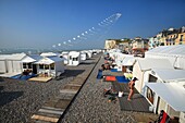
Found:
[[176, 83], [147, 83], [148, 95], [157, 97], [153, 101], [155, 113], [164, 110], [171, 118], [175, 116], [180, 123], [185, 122], [185, 88]]

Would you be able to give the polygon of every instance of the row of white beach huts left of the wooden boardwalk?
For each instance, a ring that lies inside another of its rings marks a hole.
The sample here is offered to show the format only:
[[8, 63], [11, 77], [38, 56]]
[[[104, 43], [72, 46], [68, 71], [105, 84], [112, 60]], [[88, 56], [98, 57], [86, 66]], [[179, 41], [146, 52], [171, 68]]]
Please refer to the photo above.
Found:
[[[95, 50], [100, 52], [101, 50]], [[63, 51], [62, 53], [44, 52], [41, 54], [0, 54], [0, 76], [13, 76], [24, 71], [55, 77], [64, 73], [64, 65], [78, 65], [92, 57], [92, 50]]]

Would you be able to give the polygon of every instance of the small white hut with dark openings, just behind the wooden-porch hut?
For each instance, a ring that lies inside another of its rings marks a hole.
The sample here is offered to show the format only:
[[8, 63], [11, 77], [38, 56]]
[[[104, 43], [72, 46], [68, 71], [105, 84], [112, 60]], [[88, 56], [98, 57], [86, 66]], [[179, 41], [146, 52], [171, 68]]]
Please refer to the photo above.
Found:
[[69, 53], [69, 65], [78, 65], [81, 63], [81, 52], [70, 51]]

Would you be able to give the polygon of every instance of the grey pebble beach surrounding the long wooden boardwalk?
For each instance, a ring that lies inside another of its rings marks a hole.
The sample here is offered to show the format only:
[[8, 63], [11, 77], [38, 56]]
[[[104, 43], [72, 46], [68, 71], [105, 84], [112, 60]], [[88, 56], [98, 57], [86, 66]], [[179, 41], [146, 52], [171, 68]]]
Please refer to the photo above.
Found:
[[30, 116], [46, 101], [59, 95], [61, 87], [76, 75], [91, 70], [59, 123], [137, 123], [136, 115], [145, 113], [121, 111], [119, 101], [108, 102], [108, 98], [103, 97], [103, 88], [112, 84], [96, 78], [102, 63], [103, 58], [98, 54], [78, 66], [66, 66], [60, 78], [48, 83], [1, 78], [0, 123], [33, 123]]

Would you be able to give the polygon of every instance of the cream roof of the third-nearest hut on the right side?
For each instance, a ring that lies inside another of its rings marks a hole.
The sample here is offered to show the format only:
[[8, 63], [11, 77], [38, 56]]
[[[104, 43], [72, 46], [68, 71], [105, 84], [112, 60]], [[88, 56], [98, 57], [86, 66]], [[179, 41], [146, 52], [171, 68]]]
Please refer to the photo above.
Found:
[[151, 58], [144, 58], [137, 59], [141, 71], [151, 70], [155, 67], [158, 69], [174, 69], [173, 65], [166, 59], [151, 59]]

